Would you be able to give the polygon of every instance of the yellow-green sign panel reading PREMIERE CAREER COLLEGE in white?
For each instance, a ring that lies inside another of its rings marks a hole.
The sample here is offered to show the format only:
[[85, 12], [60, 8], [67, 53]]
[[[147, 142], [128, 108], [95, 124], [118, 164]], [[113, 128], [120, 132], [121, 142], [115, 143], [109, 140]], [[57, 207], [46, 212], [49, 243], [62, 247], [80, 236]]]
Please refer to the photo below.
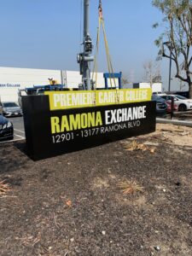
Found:
[[79, 90], [79, 91], [45, 91], [49, 96], [50, 110], [67, 108], [98, 107], [128, 102], [151, 101], [152, 90], [119, 89], [119, 90]]

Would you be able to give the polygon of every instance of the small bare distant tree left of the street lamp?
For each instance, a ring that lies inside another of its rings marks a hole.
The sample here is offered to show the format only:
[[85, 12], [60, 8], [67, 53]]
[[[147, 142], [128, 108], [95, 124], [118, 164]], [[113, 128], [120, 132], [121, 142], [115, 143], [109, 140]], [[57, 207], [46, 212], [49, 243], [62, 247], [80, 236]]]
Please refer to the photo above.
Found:
[[143, 64], [143, 68], [144, 68], [143, 79], [146, 82], [149, 82], [151, 87], [153, 83], [161, 82], [159, 62], [147, 61]]

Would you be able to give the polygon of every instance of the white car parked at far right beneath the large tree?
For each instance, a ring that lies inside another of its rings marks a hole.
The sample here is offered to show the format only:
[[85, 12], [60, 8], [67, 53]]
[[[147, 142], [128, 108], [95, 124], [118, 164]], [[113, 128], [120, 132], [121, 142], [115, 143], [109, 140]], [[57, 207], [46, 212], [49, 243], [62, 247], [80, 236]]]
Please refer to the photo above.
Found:
[[192, 110], [192, 100], [185, 98], [180, 95], [166, 95], [161, 96], [163, 99], [165, 99], [168, 102], [172, 102], [172, 97], [174, 98], [174, 104], [178, 106], [178, 111], [186, 111], [186, 110]]

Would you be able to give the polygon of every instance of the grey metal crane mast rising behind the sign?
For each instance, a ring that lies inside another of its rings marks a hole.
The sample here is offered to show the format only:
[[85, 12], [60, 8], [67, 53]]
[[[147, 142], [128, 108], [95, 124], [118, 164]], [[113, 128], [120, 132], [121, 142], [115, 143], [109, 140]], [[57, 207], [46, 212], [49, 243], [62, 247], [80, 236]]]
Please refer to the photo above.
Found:
[[94, 57], [91, 55], [93, 44], [89, 32], [89, 5], [90, 0], [84, 0], [84, 52], [78, 55], [83, 90], [91, 90], [90, 61], [94, 61]]

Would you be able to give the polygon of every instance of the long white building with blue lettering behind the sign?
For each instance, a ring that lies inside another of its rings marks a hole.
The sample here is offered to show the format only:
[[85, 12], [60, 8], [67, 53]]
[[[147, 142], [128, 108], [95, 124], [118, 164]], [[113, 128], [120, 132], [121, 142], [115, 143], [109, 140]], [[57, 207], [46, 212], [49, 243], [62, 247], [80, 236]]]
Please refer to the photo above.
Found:
[[[0, 101], [18, 102], [18, 90], [49, 84], [49, 79], [67, 88], [79, 88], [82, 82], [78, 71], [0, 67]], [[115, 83], [118, 85], [118, 81]], [[97, 73], [96, 87], [105, 88], [103, 73]]]

